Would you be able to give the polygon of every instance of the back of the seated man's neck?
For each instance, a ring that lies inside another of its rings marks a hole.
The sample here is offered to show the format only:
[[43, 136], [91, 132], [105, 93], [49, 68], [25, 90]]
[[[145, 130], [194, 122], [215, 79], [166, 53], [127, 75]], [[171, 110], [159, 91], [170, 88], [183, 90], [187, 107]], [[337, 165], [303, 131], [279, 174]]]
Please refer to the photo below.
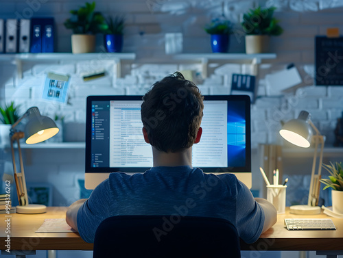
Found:
[[192, 149], [185, 149], [176, 153], [164, 153], [152, 147], [154, 166], [190, 166]]

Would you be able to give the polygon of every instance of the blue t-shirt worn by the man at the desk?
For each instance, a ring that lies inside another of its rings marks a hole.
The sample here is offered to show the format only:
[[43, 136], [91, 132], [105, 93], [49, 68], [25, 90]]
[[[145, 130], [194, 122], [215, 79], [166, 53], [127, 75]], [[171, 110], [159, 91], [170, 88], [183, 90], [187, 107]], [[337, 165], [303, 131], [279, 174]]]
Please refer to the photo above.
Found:
[[263, 209], [235, 175], [204, 174], [189, 166], [111, 173], [78, 210], [80, 236], [93, 243], [100, 222], [121, 215], [224, 218], [246, 243], [259, 238], [264, 223]]

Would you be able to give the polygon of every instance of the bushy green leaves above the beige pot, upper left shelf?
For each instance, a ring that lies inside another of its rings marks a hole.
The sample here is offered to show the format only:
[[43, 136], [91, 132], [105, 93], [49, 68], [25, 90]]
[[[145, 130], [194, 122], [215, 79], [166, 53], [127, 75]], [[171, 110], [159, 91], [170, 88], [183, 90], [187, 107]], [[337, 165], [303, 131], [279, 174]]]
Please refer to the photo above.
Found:
[[108, 29], [108, 25], [101, 12], [95, 12], [95, 2], [86, 3], [79, 10], [71, 10], [73, 16], [64, 22], [73, 34], [97, 34]]

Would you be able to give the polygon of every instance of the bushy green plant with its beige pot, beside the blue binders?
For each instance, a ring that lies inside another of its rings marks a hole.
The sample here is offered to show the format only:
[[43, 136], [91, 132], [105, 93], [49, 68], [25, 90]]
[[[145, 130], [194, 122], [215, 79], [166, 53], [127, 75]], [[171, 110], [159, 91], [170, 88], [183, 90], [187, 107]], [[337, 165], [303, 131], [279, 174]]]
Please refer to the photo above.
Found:
[[95, 2], [86, 3], [79, 10], [71, 10], [73, 16], [64, 22], [67, 29], [73, 30], [71, 49], [73, 53], [95, 51], [95, 34], [108, 28], [104, 16], [95, 12]]

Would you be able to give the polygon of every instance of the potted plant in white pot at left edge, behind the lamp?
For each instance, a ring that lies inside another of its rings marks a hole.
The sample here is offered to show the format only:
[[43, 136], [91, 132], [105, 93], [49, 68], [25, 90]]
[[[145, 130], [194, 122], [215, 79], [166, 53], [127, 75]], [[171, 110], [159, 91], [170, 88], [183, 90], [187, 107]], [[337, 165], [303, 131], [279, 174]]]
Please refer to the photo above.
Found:
[[19, 119], [19, 105], [14, 105], [14, 101], [5, 107], [0, 107], [0, 143], [2, 145], [10, 144], [10, 129], [14, 122]]

